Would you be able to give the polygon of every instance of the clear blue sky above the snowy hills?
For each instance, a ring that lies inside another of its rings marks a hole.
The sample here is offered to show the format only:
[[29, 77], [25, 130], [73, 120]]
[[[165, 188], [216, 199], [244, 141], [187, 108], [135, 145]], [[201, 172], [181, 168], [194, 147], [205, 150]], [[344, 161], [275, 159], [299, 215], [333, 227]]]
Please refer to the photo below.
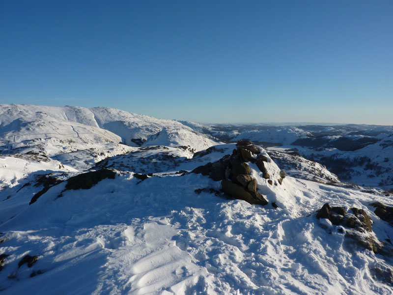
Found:
[[0, 0], [0, 103], [393, 124], [393, 1]]

